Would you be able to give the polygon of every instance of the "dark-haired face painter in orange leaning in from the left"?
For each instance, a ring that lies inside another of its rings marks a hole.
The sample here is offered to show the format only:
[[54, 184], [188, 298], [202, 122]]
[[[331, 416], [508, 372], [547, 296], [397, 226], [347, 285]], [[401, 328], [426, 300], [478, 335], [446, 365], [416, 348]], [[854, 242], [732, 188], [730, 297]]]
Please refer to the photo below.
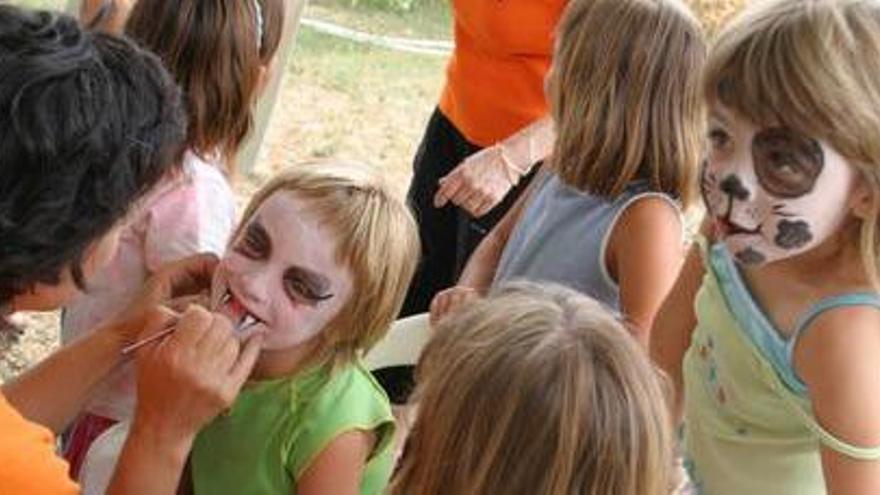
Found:
[[[179, 163], [181, 107], [161, 62], [132, 42], [0, 4], [0, 322], [57, 309], [87, 287], [126, 212]], [[196, 432], [232, 403], [261, 341], [240, 343], [205, 310], [160, 306], [206, 284], [214, 263], [161, 271], [116, 322], [3, 385], [0, 493], [77, 493], [52, 431], [121, 364], [124, 346], [172, 324], [138, 352], [138, 409], [110, 493], [175, 493]]]

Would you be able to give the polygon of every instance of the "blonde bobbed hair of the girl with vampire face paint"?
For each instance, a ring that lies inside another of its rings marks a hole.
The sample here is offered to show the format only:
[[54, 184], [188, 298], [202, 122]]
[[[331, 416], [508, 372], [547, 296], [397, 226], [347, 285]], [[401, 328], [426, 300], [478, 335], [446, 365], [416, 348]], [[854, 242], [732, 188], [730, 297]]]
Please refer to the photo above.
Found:
[[276, 192], [308, 202], [337, 238], [335, 258], [352, 273], [352, 295], [319, 335], [312, 361], [350, 362], [385, 335], [397, 317], [419, 258], [409, 208], [375, 168], [343, 161], [292, 167], [258, 191], [233, 239]]

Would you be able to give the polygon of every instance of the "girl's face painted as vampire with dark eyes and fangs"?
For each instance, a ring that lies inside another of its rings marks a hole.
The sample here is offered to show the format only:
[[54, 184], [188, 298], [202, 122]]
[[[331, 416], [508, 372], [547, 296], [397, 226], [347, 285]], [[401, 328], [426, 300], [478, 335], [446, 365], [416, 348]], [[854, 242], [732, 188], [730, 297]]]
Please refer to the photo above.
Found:
[[290, 191], [273, 193], [246, 222], [217, 269], [212, 304], [236, 326], [255, 318], [266, 350], [302, 344], [351, 294], [351, 272], [335, 259], [336, 236]]

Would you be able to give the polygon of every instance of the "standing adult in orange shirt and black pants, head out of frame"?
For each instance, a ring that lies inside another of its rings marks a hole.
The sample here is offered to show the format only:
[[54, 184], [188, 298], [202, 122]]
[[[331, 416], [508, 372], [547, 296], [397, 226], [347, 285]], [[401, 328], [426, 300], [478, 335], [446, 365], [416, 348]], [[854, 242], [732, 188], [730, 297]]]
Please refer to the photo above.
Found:
[[522, 190], [520, 179], [549, 154], [544, 77], [565, 3], [452, 1], [455, 50], [409, 190], [422, 263], [403, 315], [427, 311], [436, 292], [454, 285]]

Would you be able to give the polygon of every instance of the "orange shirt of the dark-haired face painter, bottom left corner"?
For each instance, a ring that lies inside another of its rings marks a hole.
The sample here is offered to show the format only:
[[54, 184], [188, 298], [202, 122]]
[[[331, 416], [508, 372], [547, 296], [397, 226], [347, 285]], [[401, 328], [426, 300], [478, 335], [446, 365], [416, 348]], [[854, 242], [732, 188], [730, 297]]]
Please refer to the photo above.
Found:
[[55, 438], [24, 419], [0, 393], [0, 493], [67, 495], [79, 487], [55, 455]]

